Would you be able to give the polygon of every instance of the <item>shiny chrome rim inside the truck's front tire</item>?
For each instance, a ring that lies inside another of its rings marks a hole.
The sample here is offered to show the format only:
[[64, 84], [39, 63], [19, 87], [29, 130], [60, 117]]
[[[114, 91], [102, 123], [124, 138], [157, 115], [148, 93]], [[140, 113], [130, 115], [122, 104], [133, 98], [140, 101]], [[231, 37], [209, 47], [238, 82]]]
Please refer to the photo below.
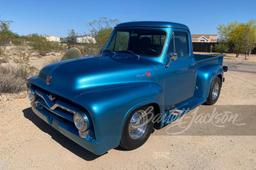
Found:
[[140, 138], [147, 129], [148, 117], [147, 113], [143, 110], [137, 111], [131, 117], [129, 123], [129, 134], [133, 139]]

